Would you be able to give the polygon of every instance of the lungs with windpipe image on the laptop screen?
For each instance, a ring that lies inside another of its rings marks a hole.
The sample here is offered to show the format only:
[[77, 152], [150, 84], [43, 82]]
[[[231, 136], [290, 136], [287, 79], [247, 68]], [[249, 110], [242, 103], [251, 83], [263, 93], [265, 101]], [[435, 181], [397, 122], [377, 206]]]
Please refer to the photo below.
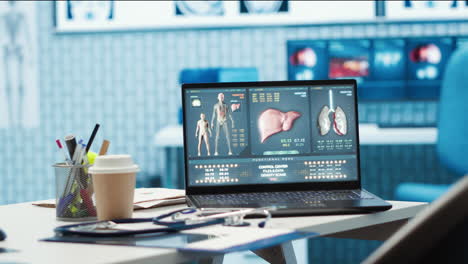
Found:
[[[346, 114], [341, 107], [334, 107], [333, 105], [333, 91], [328, 92], [329, 105], [322, 107], [322, 110], [318, 116], [318, 128], [321, 136], [325, 136], [330, 132], [331, 127], [333, 131], [339, 136], [345, 136], [347, 134], [347, 121]], [[331, 120], [330, 120], [331, 114]]]

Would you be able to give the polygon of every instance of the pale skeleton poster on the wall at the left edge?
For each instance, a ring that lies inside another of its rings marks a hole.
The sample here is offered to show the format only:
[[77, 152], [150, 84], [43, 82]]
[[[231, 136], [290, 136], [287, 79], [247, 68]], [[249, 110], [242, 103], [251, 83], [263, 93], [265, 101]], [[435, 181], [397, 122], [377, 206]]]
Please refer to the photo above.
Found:
[[0, 129], [39, 126], [36, 3], [0, 1]]

